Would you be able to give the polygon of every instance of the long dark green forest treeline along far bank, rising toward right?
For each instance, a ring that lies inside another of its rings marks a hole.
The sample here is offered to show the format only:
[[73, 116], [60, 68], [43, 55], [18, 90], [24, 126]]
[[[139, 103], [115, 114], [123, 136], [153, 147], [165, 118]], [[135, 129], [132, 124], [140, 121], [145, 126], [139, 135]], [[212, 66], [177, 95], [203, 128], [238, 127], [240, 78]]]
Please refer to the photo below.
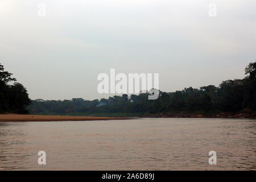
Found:
[[185, 88], [176, 92], [159, 92], [157, 100], [149, 93], [139, 95], [64, 101], [34, 100], [28, 106], [31, 114], [148, 116], [172, 114], [250, 113], [256, 116], [256, 61], [245, 68], [243, 79], [226, 80], [214, 85]]

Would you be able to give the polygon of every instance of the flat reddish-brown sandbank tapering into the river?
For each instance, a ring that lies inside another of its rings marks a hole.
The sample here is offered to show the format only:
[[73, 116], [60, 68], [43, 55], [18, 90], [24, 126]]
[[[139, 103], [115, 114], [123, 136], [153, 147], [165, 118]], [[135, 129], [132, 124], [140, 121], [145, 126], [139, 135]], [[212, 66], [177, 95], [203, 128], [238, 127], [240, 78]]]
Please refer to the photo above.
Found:
[[133, 119], [118, 117], [87, 117], [67, 115], [30, 115], [30, 114], [0, 114], [1, 121], [93, 121], [112, 119]]

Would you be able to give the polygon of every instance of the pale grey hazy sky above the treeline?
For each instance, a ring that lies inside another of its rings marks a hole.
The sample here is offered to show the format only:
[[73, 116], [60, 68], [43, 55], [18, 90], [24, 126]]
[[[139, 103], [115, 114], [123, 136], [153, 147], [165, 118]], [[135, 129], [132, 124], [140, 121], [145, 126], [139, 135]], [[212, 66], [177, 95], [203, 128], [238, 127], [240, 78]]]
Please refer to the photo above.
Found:
[[255, 7], [255, 0], [0, 0], [0, 63], [32, 99], [108, 97], [97, 93], [97, 75], [110, 68], [159, 73], [166, 92], [218, 86], [243, 78], [256, 59]]

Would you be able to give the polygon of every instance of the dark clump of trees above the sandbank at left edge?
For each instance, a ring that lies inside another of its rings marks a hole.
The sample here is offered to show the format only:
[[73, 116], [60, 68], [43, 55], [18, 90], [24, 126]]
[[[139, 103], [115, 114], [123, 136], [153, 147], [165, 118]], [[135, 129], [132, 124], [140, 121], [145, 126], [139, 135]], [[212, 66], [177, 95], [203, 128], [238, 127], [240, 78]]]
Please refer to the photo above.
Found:
[[[26, 109], [31, 100], [26, 88], [12, 78], [0, 63], [0, 113], [28, 113]], [[9, 84], [13, 82], [13, 84]]]

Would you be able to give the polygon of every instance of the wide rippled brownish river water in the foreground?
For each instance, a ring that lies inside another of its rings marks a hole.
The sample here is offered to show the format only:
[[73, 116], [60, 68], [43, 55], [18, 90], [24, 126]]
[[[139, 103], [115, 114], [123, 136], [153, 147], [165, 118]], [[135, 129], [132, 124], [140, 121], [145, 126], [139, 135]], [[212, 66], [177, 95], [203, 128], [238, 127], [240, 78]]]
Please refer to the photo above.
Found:
[[0, 169], [255, 170], [255, 129], [251, 119], [0, 122]]

